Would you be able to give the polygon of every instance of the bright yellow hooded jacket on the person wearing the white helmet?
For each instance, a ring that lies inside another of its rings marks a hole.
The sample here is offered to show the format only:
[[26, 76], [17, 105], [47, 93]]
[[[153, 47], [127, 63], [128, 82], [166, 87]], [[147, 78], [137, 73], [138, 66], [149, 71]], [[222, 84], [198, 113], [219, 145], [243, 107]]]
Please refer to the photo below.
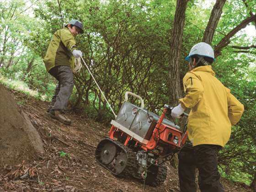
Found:
[[199, 66], [183, 78], [186, 96], [181, 106], [191, 108], [188, 138], [193, 146], [224, 145], [229, 141], [231, 125], [241, 118], [244, 106], [216, 77], [212, 66]]

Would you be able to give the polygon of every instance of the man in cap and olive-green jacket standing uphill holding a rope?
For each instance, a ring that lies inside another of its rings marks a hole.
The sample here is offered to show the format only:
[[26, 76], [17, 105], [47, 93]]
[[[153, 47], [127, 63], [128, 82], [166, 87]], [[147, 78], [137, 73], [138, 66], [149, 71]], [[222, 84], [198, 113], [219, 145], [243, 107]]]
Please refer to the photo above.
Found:
[[[72, 69], [75, 58], [83, 54], [76, 49], [75, 36], [83, 33], [83, 25], [78, 20], [70, 20], [61, 30], [57, 30], [50, 41], [46, 56], [43, 59], [46, 70], [59, 83], [48, 108], [48, 116], [69, 125], [71, 121], [63, 115], [69, 97], [73, 91], [74, 78]], [[74, 58], [75, 57], [75, 58]]]

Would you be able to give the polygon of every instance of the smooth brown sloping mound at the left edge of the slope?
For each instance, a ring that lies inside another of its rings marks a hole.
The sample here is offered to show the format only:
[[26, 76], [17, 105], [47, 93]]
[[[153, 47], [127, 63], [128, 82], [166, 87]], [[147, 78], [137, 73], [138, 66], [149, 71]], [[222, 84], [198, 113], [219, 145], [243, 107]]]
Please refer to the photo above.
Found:
[[11, 93], [0, 84], [0, 165], [16, 165], [43, 153], [43, 142]]

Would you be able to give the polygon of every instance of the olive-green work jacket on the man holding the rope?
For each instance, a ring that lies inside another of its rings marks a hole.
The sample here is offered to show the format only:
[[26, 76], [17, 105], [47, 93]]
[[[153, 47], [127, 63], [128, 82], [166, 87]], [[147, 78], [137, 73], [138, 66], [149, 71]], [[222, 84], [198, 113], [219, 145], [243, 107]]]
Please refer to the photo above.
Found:
[[54, 66], [70, 66], [74, 68], [75, 57], [72, 51], [76, 49], [75, 37], [68, 28], [57, 30], [50, 41], [46, 56], [43, 59], [47, 72]]

